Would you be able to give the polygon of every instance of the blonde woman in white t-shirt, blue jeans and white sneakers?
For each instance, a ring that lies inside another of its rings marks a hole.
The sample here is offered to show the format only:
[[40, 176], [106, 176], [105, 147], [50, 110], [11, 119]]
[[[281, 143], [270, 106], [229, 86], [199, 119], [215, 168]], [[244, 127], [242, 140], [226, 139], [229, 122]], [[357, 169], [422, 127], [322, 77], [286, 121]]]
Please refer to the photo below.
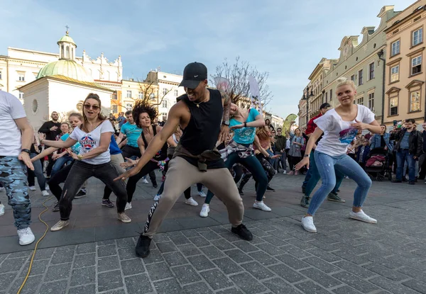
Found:
[[300, 169], [305, 165], [309, 167], [309, 154], [315, 142], [324, 132], [322, 140], [320, 140], [315, 149], [315, 163], [322, 178], [322, 185], [312, 196], [307, 214], [302, 217], [302, 227], [307, 232], [317, 232], [313, 215], [315, 215], [322, 201], [336, 184], [334, 169], [346, 174], [358, 184], [349, 217], [363, 222], [377, 222], [377, 220], [369, 217], [362, 210], [362, 205], [371, 187], [371, 179], [364, 169], [346, 154], [346, 151], [349, 143], [354, 140], [359, 130], [379, 133], [381, 128], [370, 109], [366, 108], [366, 106], [354, 104], [355, 95], [356, 87], [354, 81], [344, 77], [337, 79], [336, 96], [340, 105], [331, 111], [327, 111], [326, 114], [314, 121], [317, 124], [317, 128], [307, 142], [305, 157], [296, 166], [296, 169]]

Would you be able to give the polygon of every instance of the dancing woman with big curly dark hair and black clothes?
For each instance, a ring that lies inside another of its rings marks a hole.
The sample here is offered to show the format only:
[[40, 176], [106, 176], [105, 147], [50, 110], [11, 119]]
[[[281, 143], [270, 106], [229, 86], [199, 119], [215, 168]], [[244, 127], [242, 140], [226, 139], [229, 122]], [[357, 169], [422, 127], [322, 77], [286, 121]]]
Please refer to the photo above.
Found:
[[[136, 101], [135, 106], [133, 106], [133, 119], [135, 120], [136, 125], [138, 128], [142, 129], [141, 135], [138, 138], [138, 147], [141, 149], [141, 154], [145, 152], [146, 148], [148, 147], [149, 143], [155, 135], [157, 135], [160, 130], [163, 129], [163, 127], [160, 127], [159, 125], [153, 125], [154, 119], [158, 116], [157, 109], [154, 106], [149, 105], [145, 101]], [[155, 171], [155, 169], [159, 169], [161, 162], [163, 162], [167, 158], [167, 149], [168, 145], [170, 146], [176, 146], [175, 141], [173, 140], [173, 137], [169, 137], [167, 142], [161, 147], [160, 150], [158, 150], [157, 154], [151, 159], [148, 164], [143, 166], [141, 171], [138, 172], [138, 174], [131, 176], [129, 178], [129, 181], [127, 182], [126, 190], [127, 190], [127, 205], [126, 209], [131, 208], [131, 200], [133, 198], [133, 194], [136, 191], [136, 183], [140, 179], [143, 178], [143, 176], [146, 176], [151, 171]], [[126, 158], [126, 162], [124, 162], [124, 167], [130, 167], [135, 166], [137, 164], [138, 160], [132, 160], [129, 158]]]

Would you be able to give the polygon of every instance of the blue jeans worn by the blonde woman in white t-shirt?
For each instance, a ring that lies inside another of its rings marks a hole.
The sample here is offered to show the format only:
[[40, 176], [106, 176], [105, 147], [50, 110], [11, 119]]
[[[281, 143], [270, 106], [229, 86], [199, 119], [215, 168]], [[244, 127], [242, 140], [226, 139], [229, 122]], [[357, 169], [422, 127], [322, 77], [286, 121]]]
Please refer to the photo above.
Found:
[[346, 176], [349, 176], [349, 178], [353, 179], [358, 184], [354, 193], [353, 205], [354, 207], [361, 207], [371, 187], [371, 179], [364, 169], [346, 154], [332, 157], [328, 154], [316, 151], [314, 156], [318, 172], [322, 179], [322, 185], [317, 192], [315, 192], [314, 196], [312, 196], [307, 213], [315, 215], [315, 212], [320, 208], [320, 205], [327, 195], [333, 190], [334, 186], [336, 186], [335, 170], [342, 174], [346, 174]]

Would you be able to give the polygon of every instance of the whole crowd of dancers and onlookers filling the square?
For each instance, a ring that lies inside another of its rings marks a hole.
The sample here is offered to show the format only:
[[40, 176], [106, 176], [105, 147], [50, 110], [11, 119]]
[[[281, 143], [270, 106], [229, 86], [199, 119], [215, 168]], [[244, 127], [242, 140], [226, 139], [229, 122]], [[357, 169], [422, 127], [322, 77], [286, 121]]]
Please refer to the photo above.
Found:
[[[143, 100], [118, 118], [107, 118], [101, 113], [99, 96], [89, 94], [82, 113], [71, 113], [67, 123], [59, 122], [58, 113], [53, 112], [38, 135], [18, 99], [0, 91], [0, 134], [4, 136], [0, 140], [0, 182], [13, 208], [19, 244], [31, 244], [35, 239], [29, 227], [28, 196], [28, 190], [34, 190], [35, 177], [43, 196], [49, 195], [50, 188], [57, 199], [53, 211], [59, 211], [60, 220], [50, 229], [55, 232], [69, 225], [72, 201], [86, 196], [87, 179], [95, 177], [105, 184], [99, 201], [107, 208], [116, 206], [117, 219], [129, 223], [126, 210], [132, 209], [136, 184], [141, 180], [148, 183], [146, 176], [150, 176], [153, 187], [158, 188], [155, 171], [162, 171], [160, 188], [153, 195], [153, 206], [136, 245], [136, 255], [141, 257], [150, 253], [153, 235], [182, 193], [186, 204], [198, 205], [191, 196], [194, 184], [197, 195], [204, 198], [200, 217], [209, 215], [209, 205], [217, 196], [228, 210], [231, 232], [251, 240], [253, 236], [243, 224], [241, 198], [251, 177], [256, 194], [253, 208], [271, 212], [266, 201], [274, 195], [267, 193], [275, 191], [275, 174], [305, 174], [300, 205], [307, 208], [301, 223], [308, 232], [317, 232], [313, 216], [326, 198], [344, 202], [337, 192], [345, 177], [358, 185], [349, 217], [376, 223], [362, 210], [371, 186], [365, 168], [373, 149], [382, 148], [393, 159], [393, 182], [404, 181], [406, 169], [408, 183], [425, 178], [426, 123], [422, 133], [415, 130], [413, 120], [386, 132], [386, 125], [378, 125], [368, 108], [353, 103], [356, 86], [352, 81], [339, 79], [339, 106], [322, 104], [307, 128], [294, 130], [275, 129], [256, 108], [232, 103], [232, 94], [222, 86], [209, 89], [207, 68], [199, 62], [185, 67], [180, 86], [186, 94], [177, 98], [163, 125], [158, 123], [155, 106]], [[420, 167], [417, 178], [416, 163]], [[320, 179], [322, 185], [311, 197]], [[204, 186], [207, 193], [202, 191]], [[116, 195], [116, 205], [109, 199], [111, 192]], [[0, 204], [2, 214], [4, 205]]]

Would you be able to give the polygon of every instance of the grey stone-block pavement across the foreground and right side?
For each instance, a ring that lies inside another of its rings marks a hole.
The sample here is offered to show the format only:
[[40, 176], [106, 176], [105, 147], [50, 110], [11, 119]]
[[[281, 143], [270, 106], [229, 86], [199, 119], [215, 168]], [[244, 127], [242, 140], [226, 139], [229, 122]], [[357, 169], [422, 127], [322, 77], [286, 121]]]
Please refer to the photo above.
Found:
[[[349, 219], [355, 186], [344, 181], [346, 203], [323, 203], [310, 234], [295, 205], [302, 177], [282, 179], [267, 201], [285, 196], [286, 207], [255, 215], [246, 206], [252, 242], [214, 225], [156, 234], [146, 259], [134, 254], [137, 237], [42, 248], [21, 293], [426, 293], [426, 185], [374, 182], [364, 207], [378, 219], [371, 225]], [[32, 252], [0, 255], [1, 294], [17, 292]]]

